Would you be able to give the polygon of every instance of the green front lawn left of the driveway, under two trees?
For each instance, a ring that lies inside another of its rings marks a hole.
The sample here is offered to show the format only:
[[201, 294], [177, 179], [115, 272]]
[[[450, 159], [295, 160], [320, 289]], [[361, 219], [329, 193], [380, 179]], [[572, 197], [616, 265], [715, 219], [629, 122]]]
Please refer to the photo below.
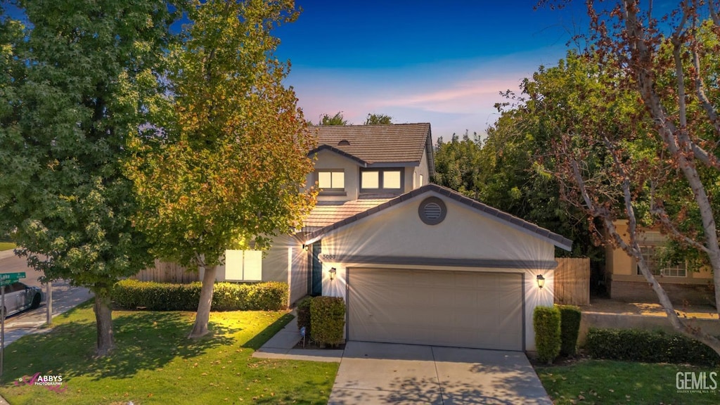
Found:
[[[94, 358], [86, 303], [53, 320], [48, 334], [5, 351], [0, 395], [11, 404], [326, 404], [337, 363], [251, 357], [292, 316], [235, 311], [210, 315], [212, 336], [186, 339], [194, 313], [114, 311], [116, 347]], [[14, 384], [24, 375], [62, 375], [66, 391]]]

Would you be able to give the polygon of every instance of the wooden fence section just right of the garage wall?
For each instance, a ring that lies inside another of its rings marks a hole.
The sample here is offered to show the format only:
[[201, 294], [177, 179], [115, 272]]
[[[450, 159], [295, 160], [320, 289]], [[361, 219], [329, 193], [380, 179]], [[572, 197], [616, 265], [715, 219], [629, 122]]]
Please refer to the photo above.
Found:
[[558, 257], [554, 276], [555, 303], [590, 304], [590, 259]]

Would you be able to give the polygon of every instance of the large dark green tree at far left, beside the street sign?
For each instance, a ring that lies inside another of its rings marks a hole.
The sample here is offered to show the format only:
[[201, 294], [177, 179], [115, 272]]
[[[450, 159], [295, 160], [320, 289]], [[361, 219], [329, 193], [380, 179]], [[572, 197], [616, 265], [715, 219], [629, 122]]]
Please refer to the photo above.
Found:
[[174, 20], [166, 1], [19, 1], [0, 19], [0, 217], [45, 280], [95, 295], [97, 353], [113, 347], [110, 290], [150, 261], [135, 229], [128, 135], [148, 120]]

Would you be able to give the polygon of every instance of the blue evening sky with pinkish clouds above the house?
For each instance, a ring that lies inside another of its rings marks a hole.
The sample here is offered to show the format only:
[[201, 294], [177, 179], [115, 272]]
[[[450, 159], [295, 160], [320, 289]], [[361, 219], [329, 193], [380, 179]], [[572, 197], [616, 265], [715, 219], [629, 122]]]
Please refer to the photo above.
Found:
[[297, 22], [276, 30], [292, 62], [305, 117], [370, 112], [395, 123], [429, 122], [433, 138], [484, 133], [499, 92], [554, 66], [587, 27], [584, 2], [534, 11], [536, 1], [297, 0]]

